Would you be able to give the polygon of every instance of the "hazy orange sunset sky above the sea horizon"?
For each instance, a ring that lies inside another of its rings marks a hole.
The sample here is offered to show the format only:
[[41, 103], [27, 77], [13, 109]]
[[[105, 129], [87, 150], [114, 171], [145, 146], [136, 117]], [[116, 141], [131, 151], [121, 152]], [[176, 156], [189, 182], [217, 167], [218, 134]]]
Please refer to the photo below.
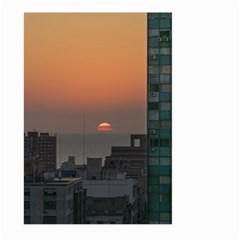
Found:
[[146, 132], [143, 13], [26, 13], [25, 131]]

